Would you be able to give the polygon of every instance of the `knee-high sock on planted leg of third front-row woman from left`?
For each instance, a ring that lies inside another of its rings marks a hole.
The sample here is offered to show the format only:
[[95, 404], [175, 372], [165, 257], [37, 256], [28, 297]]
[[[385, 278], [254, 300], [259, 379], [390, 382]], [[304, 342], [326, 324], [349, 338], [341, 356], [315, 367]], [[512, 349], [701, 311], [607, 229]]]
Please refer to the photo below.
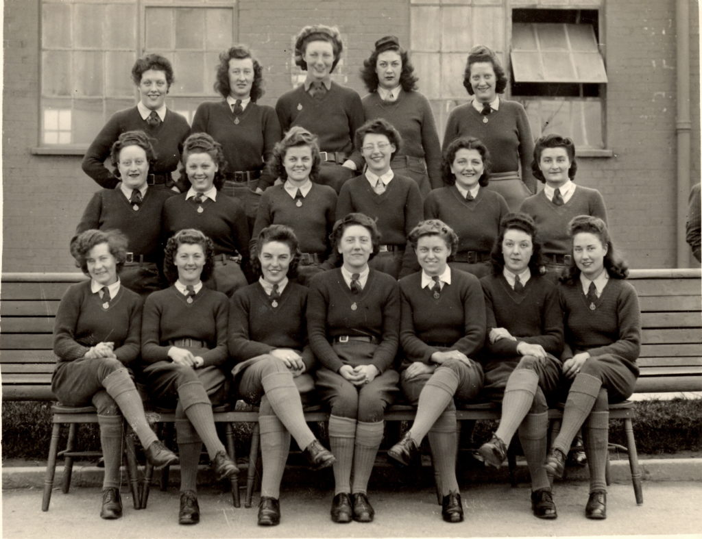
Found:
[[261, 433], [261, 460], [263, 477], [261, 496], [280, 498], [280, 482], [283, 479], [285, 463], [290, 451], [290, 433], [285, 425], [273, 414], [270, 402], [261, 399], [258, 425]]

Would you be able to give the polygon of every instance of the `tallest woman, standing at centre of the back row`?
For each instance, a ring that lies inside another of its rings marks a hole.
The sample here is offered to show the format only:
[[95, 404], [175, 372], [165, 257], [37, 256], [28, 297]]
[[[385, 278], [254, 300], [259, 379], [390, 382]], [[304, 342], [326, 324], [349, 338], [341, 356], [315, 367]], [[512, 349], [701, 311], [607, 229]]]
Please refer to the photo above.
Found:
[[331, 80], [342, 50], [336, 27], [313, 25], [300, 30], [295, 40], [295, 64], [307, 71], [307, 78], [275, 104], [283, 132], [300, 125], [319, 137], [322, 167], [317, 181], [332, 186], [337, 193], [363, 165], [354, 147], [354, 134], [364, 122], [361, 97]]

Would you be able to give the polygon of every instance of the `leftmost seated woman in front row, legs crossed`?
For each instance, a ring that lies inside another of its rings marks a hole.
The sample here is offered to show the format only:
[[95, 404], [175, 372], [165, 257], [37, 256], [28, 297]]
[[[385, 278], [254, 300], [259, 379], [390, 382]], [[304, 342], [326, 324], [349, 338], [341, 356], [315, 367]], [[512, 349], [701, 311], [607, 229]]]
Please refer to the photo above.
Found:
[[122, 516], [122, 416], [139, 437], [152, 465], [178, 460], [149, 427], [127, 368], [139, 355], [142, 300], [121, 286], [117, 276], [126, 250], [127, 240], [119, 231], [91, 229], [73, 238], [71, 254], [90, 280], [69, 287], [59, 303], [53, 329], [53, 352], [58, 361], [51, 378], [53, 394], [62, 404], [93, 404], [98, 409], [105, 460], [103, 519]]

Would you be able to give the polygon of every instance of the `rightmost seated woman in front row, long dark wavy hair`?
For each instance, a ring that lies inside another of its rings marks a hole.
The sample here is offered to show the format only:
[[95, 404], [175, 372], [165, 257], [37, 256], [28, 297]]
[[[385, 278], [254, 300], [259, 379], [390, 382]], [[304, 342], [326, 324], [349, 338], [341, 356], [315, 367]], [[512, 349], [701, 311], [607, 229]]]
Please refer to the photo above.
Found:
[[628, 268], [614, 252], [604, 221], [580, 215], [570, 221], [569, 233], [573, 261], [558, 291], [566, 342], [562, 372], [571, 386], [544, 466], [560, 477], [568, 448], [584, 427], [590, 468], [585, 517], [604, 519], [609, 404], [626, 400], [639, 376], [641, 313], [636, 291], [625, 281]]

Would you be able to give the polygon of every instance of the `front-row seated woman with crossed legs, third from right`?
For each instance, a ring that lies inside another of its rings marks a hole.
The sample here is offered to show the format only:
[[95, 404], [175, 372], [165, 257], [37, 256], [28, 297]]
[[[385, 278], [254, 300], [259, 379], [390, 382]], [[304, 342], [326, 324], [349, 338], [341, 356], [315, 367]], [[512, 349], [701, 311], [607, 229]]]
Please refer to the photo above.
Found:
[[441, 478], [442, 517], [463, 521], [456, 480], [456, 405], [472, 400], [482, 388], [480, 365], [471, 359], [485, 339], [485, 303], [470, 273], [451, 268], [446, 259], [458, 237], [443, 221], [422, 221], [409, 235], [422, 270], [399, 282], [402, 302], [402, 391], [417, 415], [404, 438], [388, 451], [400, 465], [418, 456], [429, 435]]

